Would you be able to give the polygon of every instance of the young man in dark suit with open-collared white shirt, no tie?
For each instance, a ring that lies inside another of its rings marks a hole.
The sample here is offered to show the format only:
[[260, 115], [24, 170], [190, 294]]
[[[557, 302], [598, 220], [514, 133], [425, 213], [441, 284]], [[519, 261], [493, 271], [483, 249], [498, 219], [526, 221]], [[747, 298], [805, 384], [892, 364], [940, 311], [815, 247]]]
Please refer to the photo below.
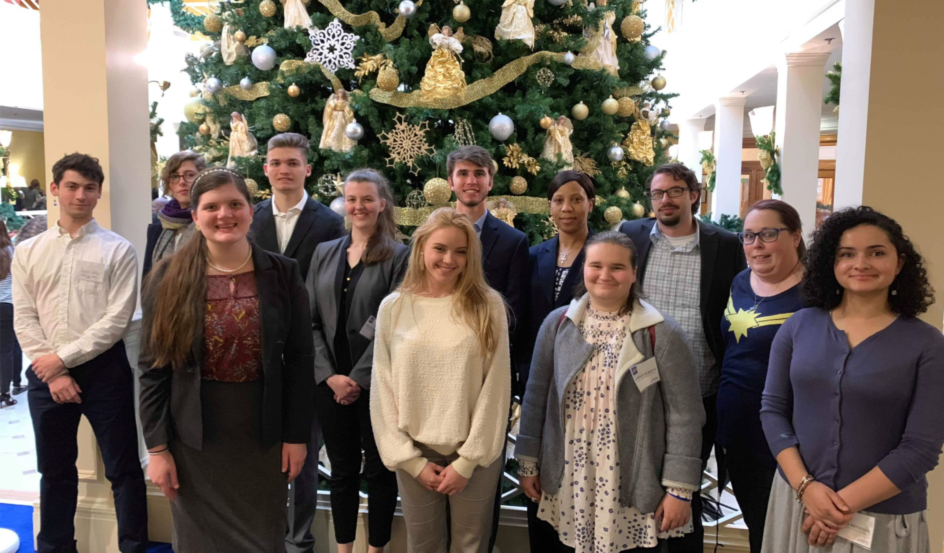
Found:
[[[302, 280], [308, 277], [308, 268], [312, 265], [312, 255], [318, 244], [345, 233], [344, 217], [305, 192], [305, 179], [312, 175], [308, 151], [308, 139], [295, 132], [283, 132], [269, 139], [263, 169], [272, 186], [272, 199], [256, 204], [249, 227], [252, 239], [263, 250], [297, 260]], [[315, 421], [305, 464], [289, 487], [287, 553], [312, 553], [314, 550], [310, 528], [318, 495], [317, 435], [318, 423]]]

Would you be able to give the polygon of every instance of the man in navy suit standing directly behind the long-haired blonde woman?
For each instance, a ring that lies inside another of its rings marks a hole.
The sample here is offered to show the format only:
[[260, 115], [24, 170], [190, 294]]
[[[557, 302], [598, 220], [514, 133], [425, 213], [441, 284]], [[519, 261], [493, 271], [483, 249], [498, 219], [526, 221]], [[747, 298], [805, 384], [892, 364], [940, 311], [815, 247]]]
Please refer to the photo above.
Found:
[[[481, 262], [485, 280], [495, 288], [511, 308], [508, 333], [512, 347], [512, 390], [518, 387], [516, 363], [522, 347], [519, 321], [526, 320], [531, 277], [528, 269], [528, 236], [493, 216], [485, 208], [485, 199], [492, 190], [495, 164], [492, 156], [480, 146], [464, 146], [449, 152], [446, 160], [449, 188], [456, 193], [456, 209], [472, 219], [481, 240]], [[502, 458], [505, 452], [502, 451]], [[495, 546], [498, 514], [501, 507], [501, 478], [492, 517], [492, 535], [488, 550]]]

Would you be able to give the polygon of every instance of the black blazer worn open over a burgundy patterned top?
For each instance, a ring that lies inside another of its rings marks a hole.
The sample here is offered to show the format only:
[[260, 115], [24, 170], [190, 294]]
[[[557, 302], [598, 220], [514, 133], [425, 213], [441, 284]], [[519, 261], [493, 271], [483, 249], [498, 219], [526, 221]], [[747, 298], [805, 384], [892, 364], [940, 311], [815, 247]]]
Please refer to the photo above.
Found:
[[[308, 292], [294, 259], [254, 246], [252, 262], [262, 320], [262, 445], [270, 447], [277, 441], [307, 443], [312, 440], [314, 417], [314, 345], [309, 331], [312, 315]], [[191, 345], [192, 357], [183, 369], [152, 367], [153, 357], [147, 347], [157, 284], [166, 267], [155, 271], [153, 286], [147, 286], [142, 298], [142, 347], [138, 367], [141, 369], [144, 443], [150, 448], [176, 439], [194, 449], [202, 449], [203, 324], [197, 324]], [[200, 313], [204, 305], [201, 298]]]

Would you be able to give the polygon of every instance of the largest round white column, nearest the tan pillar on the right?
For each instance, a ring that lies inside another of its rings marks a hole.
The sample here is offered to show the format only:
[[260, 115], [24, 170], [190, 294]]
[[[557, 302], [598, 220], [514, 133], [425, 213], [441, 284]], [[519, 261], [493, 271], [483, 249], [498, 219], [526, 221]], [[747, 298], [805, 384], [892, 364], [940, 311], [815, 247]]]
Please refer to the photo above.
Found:
[[828, 52], [786, 54], [777, 64], [777, 113], [774, 129], [781, 148], [781, 184], [785, 202], [803, 222], [803, 235], [817, 223], [819, 121]]

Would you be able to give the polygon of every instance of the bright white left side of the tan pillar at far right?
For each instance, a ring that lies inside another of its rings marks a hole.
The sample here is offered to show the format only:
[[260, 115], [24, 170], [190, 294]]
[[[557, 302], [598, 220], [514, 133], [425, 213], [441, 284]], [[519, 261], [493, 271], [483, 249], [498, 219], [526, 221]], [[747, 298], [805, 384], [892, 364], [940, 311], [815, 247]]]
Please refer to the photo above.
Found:
[[862, 204], [874, 16], [875, 0], [846, 3], [846, 19], [841, 27], [842, 89], [835, 146], [834, 210]]

